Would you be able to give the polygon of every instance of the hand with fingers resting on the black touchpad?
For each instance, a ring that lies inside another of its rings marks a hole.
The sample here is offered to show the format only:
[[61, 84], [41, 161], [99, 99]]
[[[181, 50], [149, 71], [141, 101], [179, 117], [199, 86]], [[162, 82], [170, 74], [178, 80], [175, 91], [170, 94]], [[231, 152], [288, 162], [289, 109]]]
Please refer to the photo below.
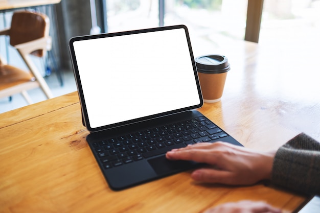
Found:
[[249, 185], [270, 179], [276, 151], [258, 152], [229, 143], [200, 143], [167, 152], [169, 160], [193, 160], [213, 165], [195, 170], [196, 181]]

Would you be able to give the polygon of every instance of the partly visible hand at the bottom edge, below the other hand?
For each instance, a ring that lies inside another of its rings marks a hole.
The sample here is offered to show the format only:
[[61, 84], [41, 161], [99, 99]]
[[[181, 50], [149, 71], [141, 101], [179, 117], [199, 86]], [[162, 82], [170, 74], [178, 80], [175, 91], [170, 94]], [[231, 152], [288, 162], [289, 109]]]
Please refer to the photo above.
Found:
[[210, 208], [204, 213], [281, 213], [281, 209], [261, 201], [244, 200], [236, 203], [224, 203]]

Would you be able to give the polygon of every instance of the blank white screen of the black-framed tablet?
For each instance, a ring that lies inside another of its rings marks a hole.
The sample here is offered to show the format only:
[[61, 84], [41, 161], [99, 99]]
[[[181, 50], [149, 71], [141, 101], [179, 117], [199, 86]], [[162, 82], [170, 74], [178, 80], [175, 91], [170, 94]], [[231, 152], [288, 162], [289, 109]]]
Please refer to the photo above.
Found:
[[200, 103], [184, 29], [75, 41], [74, 51], [91, 128]]

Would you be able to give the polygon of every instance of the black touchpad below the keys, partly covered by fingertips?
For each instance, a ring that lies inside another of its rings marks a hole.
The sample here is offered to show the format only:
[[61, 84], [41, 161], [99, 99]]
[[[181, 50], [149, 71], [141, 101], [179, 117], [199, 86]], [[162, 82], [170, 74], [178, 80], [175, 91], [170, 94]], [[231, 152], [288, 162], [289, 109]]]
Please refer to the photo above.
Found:
[[165, 175], [174, 172], [188, 170], [196, 164], [185, 160], [168, 160], [165, 155], [148, 160], [157, 175]]

